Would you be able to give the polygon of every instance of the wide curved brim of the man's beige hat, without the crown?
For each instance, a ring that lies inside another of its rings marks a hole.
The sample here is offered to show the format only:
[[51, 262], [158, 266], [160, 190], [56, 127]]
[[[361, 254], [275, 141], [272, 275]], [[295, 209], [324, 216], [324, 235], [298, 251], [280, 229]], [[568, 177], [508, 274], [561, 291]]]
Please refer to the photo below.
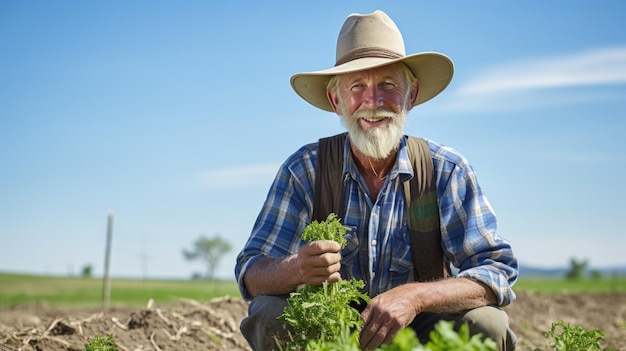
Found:
[[407, 65], [419, 82], [419, 92], [414, 106], [424, 103], [441, 93], [450, 84], [454, 75], [454, 64], [448, 56], [437, 52], [422, 52], [393, 60], [366, 57], [326, 70], [294, 74], [291, 77], [291, 87], [311, 105], [322, 110], [334, 112], [326, 96], [326, 85], [332, 76], [381, 67], [396, 62], [402, 62]]

